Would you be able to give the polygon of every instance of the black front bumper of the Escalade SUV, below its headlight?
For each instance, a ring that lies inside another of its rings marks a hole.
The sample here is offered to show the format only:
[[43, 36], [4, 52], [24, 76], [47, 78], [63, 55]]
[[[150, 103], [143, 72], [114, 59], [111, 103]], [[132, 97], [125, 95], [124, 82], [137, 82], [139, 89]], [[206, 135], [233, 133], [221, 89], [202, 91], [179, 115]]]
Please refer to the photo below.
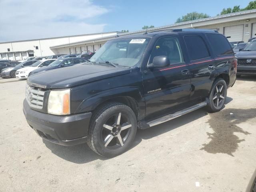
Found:
[[70, 116], [56, 116], [32, 110], [26, 99], [23, 112], [31, 128], [45, 140], [63, 146], [73, 146], [87, 141], [91, 112]]

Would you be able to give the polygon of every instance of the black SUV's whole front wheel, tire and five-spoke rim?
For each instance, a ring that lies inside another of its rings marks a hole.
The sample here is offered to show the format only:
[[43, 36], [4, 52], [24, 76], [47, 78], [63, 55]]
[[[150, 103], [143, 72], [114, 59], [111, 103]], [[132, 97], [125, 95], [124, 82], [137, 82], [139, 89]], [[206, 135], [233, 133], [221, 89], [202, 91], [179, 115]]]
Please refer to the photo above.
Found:
[[121, 103], [108, 103], [95, 111], [87, 144], [101, 156], [118, 156], [128, 150], [136, 131], [137, 118], [132, 109]]

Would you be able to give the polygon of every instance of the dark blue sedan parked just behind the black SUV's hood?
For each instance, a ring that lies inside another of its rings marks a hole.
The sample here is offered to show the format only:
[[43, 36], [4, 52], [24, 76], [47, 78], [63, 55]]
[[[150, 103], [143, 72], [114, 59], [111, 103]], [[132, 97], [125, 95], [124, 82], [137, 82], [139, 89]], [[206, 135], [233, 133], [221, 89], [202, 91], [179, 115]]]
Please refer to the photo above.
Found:
[[58, 68], [62, 68], [62, 67], [69, 67], [69, 66], [73, 66], [75, 64], [79, 64], [79, 63], [84, 63], [86, 62], [86, 60], [84, 58], [63, 58], [63, 59], [58, 59], [54, 62], [52, 62], [50, 65], [46, 66], [46, 67], [42, 67], [42, 68], [38, 68], [36, 70], [33, 70], [30, 75], [34, 75], [37, 73], [41, 73], [44, 71], [48, 71], [48, 70], [53, 70], [53, 69], [58, 69]]

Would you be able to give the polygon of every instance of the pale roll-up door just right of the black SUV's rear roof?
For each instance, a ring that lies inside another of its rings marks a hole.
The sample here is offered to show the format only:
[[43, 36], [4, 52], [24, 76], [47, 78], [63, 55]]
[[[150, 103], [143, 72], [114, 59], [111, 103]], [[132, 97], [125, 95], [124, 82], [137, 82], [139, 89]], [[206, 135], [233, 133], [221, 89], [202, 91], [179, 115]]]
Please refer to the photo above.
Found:
[[224, 27], [224, 35], [229, 42], [242, 41], [244, 36], [244, 25]]

